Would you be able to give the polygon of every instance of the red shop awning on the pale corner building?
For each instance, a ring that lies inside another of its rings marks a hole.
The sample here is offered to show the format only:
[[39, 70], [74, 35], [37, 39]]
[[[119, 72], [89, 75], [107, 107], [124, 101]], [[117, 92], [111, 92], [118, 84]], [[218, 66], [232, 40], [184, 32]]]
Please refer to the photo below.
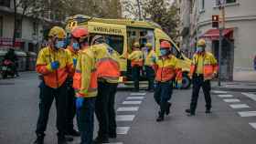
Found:
[[[222, 35], [232, 39], [233, 37], [233, 28], [225, 28], [222, 32]], [[209, 29], [202, 38], [208, 38], [210, 40], [219, 40], [219, 29]]]

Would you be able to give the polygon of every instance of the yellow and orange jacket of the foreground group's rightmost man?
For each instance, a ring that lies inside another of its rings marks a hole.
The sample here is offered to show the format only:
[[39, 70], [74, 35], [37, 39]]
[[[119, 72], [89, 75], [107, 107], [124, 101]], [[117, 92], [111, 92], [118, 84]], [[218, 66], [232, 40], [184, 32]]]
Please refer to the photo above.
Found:
[[120, 77], [119, 57], [112, 47], [101, 44], [91, 46], [96, 56], [98, 80], [106, 80], [109, 83], [118, 83]]

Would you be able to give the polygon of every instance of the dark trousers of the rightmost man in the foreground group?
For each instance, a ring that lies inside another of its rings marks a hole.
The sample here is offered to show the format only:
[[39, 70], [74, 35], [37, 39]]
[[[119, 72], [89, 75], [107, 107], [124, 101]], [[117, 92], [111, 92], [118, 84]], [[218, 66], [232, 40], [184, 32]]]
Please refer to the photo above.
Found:
[[114, 108], [116, 89], [116, 83], [98, 82], [95, 113], [99, 121], [98, 137], [100, 138], [108, 138], [110, 135], [116, 135]]

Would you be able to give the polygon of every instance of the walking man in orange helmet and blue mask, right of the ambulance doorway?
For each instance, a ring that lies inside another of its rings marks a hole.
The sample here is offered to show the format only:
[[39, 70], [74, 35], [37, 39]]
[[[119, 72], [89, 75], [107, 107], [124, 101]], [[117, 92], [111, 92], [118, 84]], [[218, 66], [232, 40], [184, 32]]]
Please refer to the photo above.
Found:
[[[159, 105], [157, 122], [163, 121], [165, 114], [170, 113], [171, 103], [168, 102], [173, 93], [173, 82], [178, 84], [182, 82], [181, 67], [177, 65], [177, 58], [171, 55], [171, 44], [168, 41], [162, 41], [160, 44], [161, 56], [155, 61], [155, 102]], [[180, 85], [178, 85], [180, 86]]]

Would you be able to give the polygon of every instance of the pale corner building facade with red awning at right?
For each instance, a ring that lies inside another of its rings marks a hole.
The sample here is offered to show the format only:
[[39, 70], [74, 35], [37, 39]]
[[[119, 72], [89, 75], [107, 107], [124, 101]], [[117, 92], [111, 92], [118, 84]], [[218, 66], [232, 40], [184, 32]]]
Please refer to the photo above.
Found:
[[[207, 39], [208, 50], [219, 57], [219, 30], [212, 28], [212, 15], [220, 15], [219, 0], [182, 0], [189, 1], [190, 23], [189, 42], [183, 38], [183, 46], [190, 53], [195, 51], [197, 38]], [[256, 55], [256, 1], [225, 0], [225, 29], [223, 32], [221, 55], [221, 76], [224, 79], [236, 80], [236, 73], [247, 73], [253, 70], [253, 57]], [[185, 9], [185, 6], [181, 6]], [[185, 16], [183, 16], [185, 17]], [[181, 19], [186, 24], [187, 19]], [[220, 24], [222, 25], [222, 24]], [[181, 29], [186, 29], [182, 26]]]

